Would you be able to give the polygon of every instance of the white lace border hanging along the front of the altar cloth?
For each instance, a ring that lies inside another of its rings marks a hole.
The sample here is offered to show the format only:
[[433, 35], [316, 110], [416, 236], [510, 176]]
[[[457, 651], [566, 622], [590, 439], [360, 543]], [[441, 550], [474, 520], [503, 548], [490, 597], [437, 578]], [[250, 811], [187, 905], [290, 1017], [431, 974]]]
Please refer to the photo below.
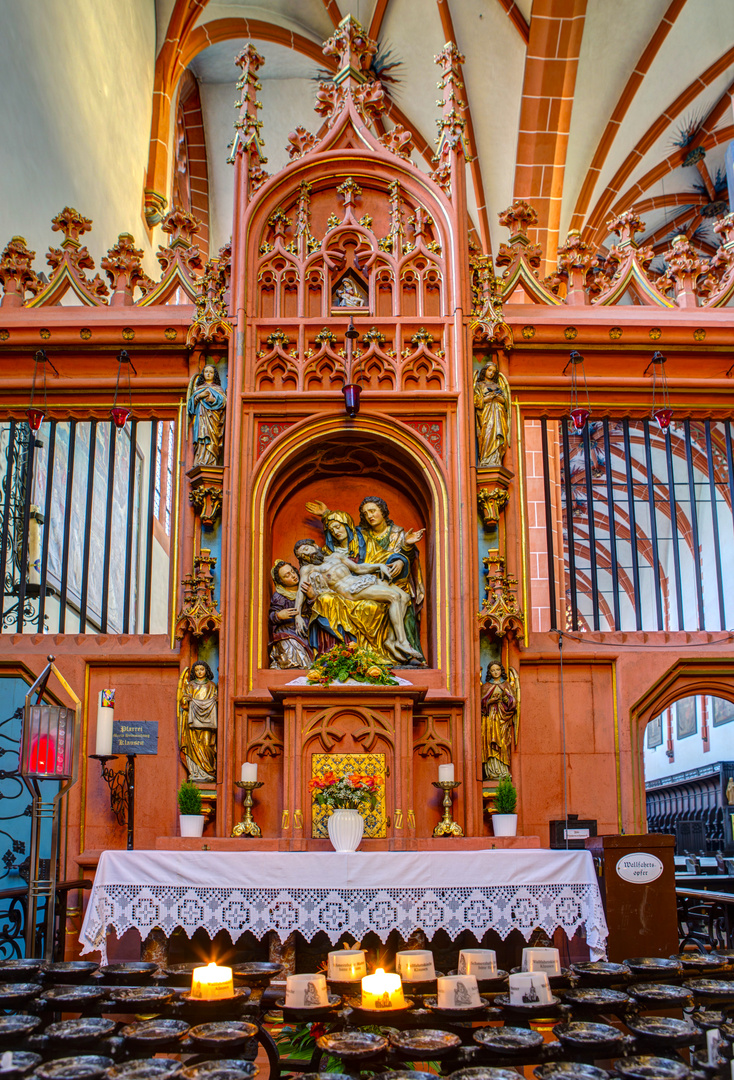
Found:
[[109, 929], [118, 937], [136, 929], [145, 937], [154, 928], [166, 936], [180, 927], [189, 937], [203, 928], [214, 939], [227, 930], [233, 941], [249, 930], [281, 937], [297, 930], [311, 941], [320, 930], [336, 944], [343, 933], [362, 941], [373, 931], [380, 941], [397, 930], [407, 940], [421, 929], [457, 937], [471, 930], [479, 940], [490, 928], [503, 940], [519, 930], [548, 936], [560, 929], [569, 937], [585, 927], [592, 958], [606, 956], [607, 920], [596, 885], [476, 886], [434, 889], [248, 889], [214, 886], [104, 885], [96, 888], [87, 913], [82, 953], [99, 949], [107, 962]]

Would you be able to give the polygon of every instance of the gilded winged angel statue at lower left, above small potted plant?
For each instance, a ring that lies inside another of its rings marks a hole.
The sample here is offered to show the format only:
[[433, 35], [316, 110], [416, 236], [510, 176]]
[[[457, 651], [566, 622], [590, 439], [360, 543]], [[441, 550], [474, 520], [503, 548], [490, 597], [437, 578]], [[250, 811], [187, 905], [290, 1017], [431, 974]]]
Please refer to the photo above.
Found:
[[192, 781], [217, 779], [217, 684], [208, 664], [196, 660], [178, 680], [178, 748]]

